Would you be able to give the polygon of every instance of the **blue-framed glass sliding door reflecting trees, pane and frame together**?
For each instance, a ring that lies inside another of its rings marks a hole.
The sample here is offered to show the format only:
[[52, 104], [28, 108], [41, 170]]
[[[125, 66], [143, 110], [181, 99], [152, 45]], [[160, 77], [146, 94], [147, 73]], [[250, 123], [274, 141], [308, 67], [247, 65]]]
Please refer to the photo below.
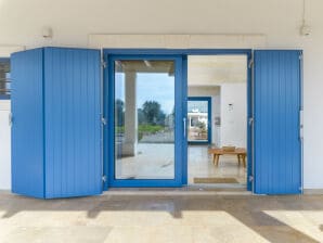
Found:
[[181, 56], [109, 56], [111, 187], [180, 187]]

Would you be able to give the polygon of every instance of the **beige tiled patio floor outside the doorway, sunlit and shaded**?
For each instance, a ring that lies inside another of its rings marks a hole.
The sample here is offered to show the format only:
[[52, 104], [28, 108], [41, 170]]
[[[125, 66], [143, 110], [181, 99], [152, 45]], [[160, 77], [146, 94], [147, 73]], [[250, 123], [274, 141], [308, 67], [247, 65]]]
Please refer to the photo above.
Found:
[[323, 242], [323, 195], [0, 193], [1, 243]]

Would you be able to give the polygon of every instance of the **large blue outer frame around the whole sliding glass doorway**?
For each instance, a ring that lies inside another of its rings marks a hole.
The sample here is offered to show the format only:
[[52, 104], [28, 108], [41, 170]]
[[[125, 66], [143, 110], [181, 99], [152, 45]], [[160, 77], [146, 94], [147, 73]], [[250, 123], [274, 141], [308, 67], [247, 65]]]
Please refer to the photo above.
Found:
[[[113, 74], [113, 56], [132, 56], [133, 59], [145, 57], [145, 55], [158, 59], [159, 56], [171, 56], [176, 55], [178, 59], [181, 59], [182, 63], [182, 72], [181, 72], [181, 92], [178, 95], [181, 97], [182, 102], [182, 115], [186, 116], [188, 114], [188, 55], [246, 55], [247, 62], [250, 63], [253, 59], [251, 49], [104, 49], [103, 50], [103, 59], [107, 63], [107, 68], [104, 69], [104, 98], [103, 98], [103, 116], [104, 117], [114, 117], [113, 111], [111, 107], [111, 98], [114, 94], [114, 90], [109, 88], [112, 82], [112, 74]], [[253, 118], [253, 89], [251, 89], [251, 74], [253, 68], [250, 65], [247, 65], [247, 119]], [[113, 100], [113, 99], [112, 99]], [[112, 119], [113, 120], [113, 119]], [[108, 120], [111, 122], [111, 120]], [[182, 126], [182, 123], [180, 123]], [[251, 142], [251, 125], [247, 123], [247, 190], [253, 190], [253, 183], [249, 178], [253, 176], [253, 142]], [[108, 124], [107, 124], [108, 125]], [[111, 126], [111, 125], [109, 125]], [[111, 145], [114, 144], [114, 131], [113, 129], [108, 129], [109, 126], [105, 126], [103, 130], [104, 135], [104, 145], [103, 145], [103, 171], [104, 176], [107, 178], [104, 182], [104, 190], [107, 190], [109, 187], [182, 187], [188, 184], [188, 141], [186, 139], [182, 141], [181, 146], [181, 162], [178, 162], [181, 166], [178, 169], [178, 174], [176, 178], [179, 178], [177, 181], [171, 181], [169, 183], [165, 183], [164, 180], [137, 180], [131, 182], [130, 180], [118, 180], [115, 181], [111, 178], [109, 171], [113, 171], [111, 167], [111, 156], [114, 151], [111, 151]], [[183, 129], [183, 128], [182, 128]], [[178, 176], [178, 177], [177, 177]], [[131, 182], [130, 184], [128, 182]]]

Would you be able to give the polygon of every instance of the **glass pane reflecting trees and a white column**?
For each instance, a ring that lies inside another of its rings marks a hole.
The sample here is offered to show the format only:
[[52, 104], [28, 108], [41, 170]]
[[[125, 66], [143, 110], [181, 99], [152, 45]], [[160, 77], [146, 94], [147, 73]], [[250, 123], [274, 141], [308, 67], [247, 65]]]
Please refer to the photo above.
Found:
[[175, 60], [114, 61], [115, 179], [175, 179]]

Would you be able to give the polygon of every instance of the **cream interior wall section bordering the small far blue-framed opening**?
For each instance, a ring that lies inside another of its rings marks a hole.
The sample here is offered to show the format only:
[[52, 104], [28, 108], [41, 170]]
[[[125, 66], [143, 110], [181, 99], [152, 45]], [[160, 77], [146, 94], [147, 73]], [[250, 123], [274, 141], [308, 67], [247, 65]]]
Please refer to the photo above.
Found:
[[211, 98], [211, 126], [212, 143], [220, 145], [220, 127], [216, 126], [215, 117], [221, 115], [220, 87], [196, 87], [189, 86], [189, 97], [210, 97]]

